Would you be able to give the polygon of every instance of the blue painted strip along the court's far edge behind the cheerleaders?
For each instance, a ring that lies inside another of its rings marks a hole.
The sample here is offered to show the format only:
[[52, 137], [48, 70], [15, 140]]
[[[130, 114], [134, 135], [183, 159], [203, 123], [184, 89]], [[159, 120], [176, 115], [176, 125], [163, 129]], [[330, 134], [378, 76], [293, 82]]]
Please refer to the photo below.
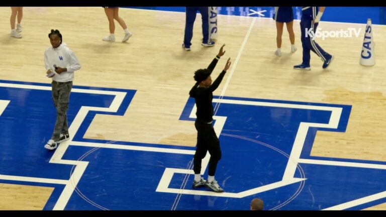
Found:
[[[123, 7], [145, 10], [185, 12], [184, 7]], [[300, 20], [302, 7], [293, 7], [294, 17]], [[274, 7], [218, 7], [221, 15], [248, 16], [254, 11], [266, 11], [264, 17], [272, 18], [275, 12]], [[251, 17], [262, 17], [256, 14]], [[366, 24], [370, 18], [372, 24], [386, 24], [386, 7], [327, 7], [321, 21], [360, 23]]]

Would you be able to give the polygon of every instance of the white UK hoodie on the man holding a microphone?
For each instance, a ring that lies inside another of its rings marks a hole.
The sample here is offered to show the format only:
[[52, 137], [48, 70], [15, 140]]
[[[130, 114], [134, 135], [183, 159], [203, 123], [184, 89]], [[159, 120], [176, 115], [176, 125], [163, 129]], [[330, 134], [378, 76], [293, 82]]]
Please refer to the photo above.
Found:
[[66, 72], [60, 74], [55, 72], [52, 80], [66, 82], [74, 80], [74, 71], [80, 69], [80, 63], [74, 52], [67, 47], [66, 43], [59, 45], [57, 48], [52, 46], [44, 52], [44, 64], [46, 70], [51, 69], [55, 72], [54, 65], [60, 68], [67, 68]]

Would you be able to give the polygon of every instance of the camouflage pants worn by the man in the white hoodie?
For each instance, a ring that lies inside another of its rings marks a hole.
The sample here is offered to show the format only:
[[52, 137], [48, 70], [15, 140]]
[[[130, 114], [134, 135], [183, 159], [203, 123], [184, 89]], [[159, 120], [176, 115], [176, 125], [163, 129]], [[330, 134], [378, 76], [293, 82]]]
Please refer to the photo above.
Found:
[[58, 83], [52, 81], [52, 100], [56, 108], [56, 123], [54, 133], [52, 134], [51, 139], [54, 141], [59, 140], [60, 134], [68, 133], [68, 123], [67, 123], [67, 110], [68, 103], [70, 100], [70, 92], [72, 88], [71, 82]]

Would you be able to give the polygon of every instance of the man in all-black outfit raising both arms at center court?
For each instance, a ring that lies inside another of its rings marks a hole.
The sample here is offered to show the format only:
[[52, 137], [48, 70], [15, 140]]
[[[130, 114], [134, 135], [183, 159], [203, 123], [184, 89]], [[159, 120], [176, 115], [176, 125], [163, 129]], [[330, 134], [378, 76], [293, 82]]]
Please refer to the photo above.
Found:
[[[216, 167], [221, 159], [220, 141], [217, 138], [215, 130], [212, 126], [213, 122], [213, 91], [217, 89], [224, 78], [225, 73], [231, 66], [230, 59], [225, 64], [224, 70], [216, 78], [212, 84], [212, 71], [215, 68], [218, 60], [224, 55], [223, 47], [220, 48], [219, 54], [211, 62], [206, 69], [199, 69], [195, 72], [196, 84], [189, 91], [190, 97], [195, 98], [197, 106], [197, 119], [195, 127], [197, 130], [197, 148], [194, 157], [195, 180], [193, 187], [206, 186], [215, 192], [224, 192], [215, 179]], [[201, 177], [201, 162], [206, 156], [207, 151], [211, 155], [209, 160], [208, 180]]]

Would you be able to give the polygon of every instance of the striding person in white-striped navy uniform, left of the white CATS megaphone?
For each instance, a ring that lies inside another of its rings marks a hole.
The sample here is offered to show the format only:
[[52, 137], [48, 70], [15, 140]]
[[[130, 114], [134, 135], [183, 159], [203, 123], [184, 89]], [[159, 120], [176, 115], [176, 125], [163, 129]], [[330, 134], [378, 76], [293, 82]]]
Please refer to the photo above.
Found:
[[[318, 8], [319, 12], [318, 12]], [[326, 69], [334, 60], [334, 56], [324, 51], [316, 42], [315, 38], [311, 37], [308, 33], [309, 30], [315, 33], [318, 27], [320, 18], [326, 7], [303, 7], [302, 19], [300, 21], [300, 29], [302, 31], [302, 47], [303, 47], [303, 62], [302, 64], [295, 65], [294, 69], [311, 70], [310, 66], [310, 50], [316, 53], [324, 62], [323, 68]], [[307, 37], [306, 37], [307, 36]]]

